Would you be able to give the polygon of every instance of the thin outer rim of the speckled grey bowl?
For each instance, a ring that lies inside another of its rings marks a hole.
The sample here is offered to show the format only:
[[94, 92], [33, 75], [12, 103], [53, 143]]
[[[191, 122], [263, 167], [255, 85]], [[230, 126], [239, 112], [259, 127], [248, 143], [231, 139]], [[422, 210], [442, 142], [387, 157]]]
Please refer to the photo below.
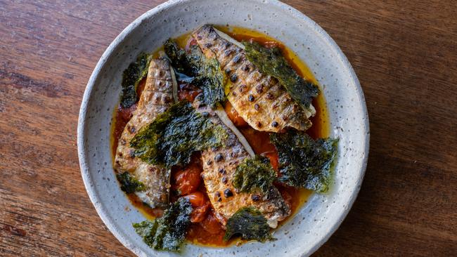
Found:
[[[98, 196], [96, 195], [96, 190], [94, 186], [91, 184], [91, 178], [90, 178], [90, 173], [89, 173], [89, 168], [87, 166], [87, 161], [88, 159], [86, 157], [86, 151], [84, 150], [86, 143], [84, 142], [84, 138], [86, 137], [86, 113], [88, 110], [88, 104], [89, 104], [89, 98], [90, 95], [94, 91], [94, 86], [96, 79], [99, 76], [99, 73], [102, 69], [102, 67], [106, 64], [106, 61], [108, 60], [109, 56], [112, 54], [112, 52], [117, 48], [119, 44], [122, 43], [122, 41], [129, 35], [131, 31], [136, 29], [136, 27], [139, 27], [142, 22], [144, 22], [146, 19], [148, 19], [150, 16], [155, 15], [156, 13], [160, 13], [161, 11], [164, 11], [167, 8], [172, 8], [176, 5], [186, 3], [192, 0], [169, 0], [166, 1], [165, 3], [162, 3], [158, 6], [155, 6], [155, 8], [150, 9], [149, 11], [146, 11], [146, 13], [143, 13], [142, 15], [139, 16], [139, 18], [136, 18], [133, 22], [131, 22], [127, 27], [125, 27], [120, 34], [117, 35], [117, 37], [110, 43], [108, 48], [106, 48], [105, 52], [103, 55], [101, 55], [101, 58], [98, 60], [96, 67], [94, 68], [94, 71], [91, 74], [91, 77], [89, 78], [89, 81], [87, 82], [86, 88], [84, 90], [84, 95], [82, 98], [82, 103], [81, 107], [79, 109], [79, 118], [78, 118], [78, 126], [77, 126], [77, 151], [78, 151], [78, 157], [79, 157], [79, 167], [81, 169], [81, 175], [82, 179], [84, 182], [84, 187], [86, 187], [86, 192], [89, 195], [89, 199], [91, 200], [92, 204], [94, 204], [94, 207], [96, 209], [96, 212], [98, 213], [98, 216], [100, 216], [101, 220], [103, 220], [103, 223], [105, 223], [106, 227], [110, 230], [112, 235], [114, 235], [118, 241], [120, 241], [127, 249], [135, 253], [137, 256], [147, 256], [145, 252], [141, 250], [140, 247], [136, 246], [135, 244], [130, 243], [130, 239], [127, 237], [124, 237], [121, 232], [116, 230], [114, 226], [112, 225], [114, 222], [111, 220], [111, 218], [108, 216], [108, 213], [106, 213], [105, 208], [102, 206], [101, 202], [98, 199]], [[370, 127], [369, 127], [369, 120], [368, 120], [368, 111], [366, 107], [366, 101], [365, 97], [363, 95], [363, 91], [359, 82], [359, 79], [357, 78], [354, 69], [352, 68], [352, 65], [349, 63], [349, 60], [347, 60], [346, 55], [342, 52], [340, 47], [335, 43], [335, 41], [330, 37], [330, 35], [321, 27], [319, 26], [314, 20], [311, 20], [307, 15], [304, 15], [304, 13], [298, 11], [296, 8], [293, 8], [292, 6], [289, 6], [288, 4], [282, 3], [281, 1], [277, 0], [251, 0], [251, 1], [256, 1], [259, 4], [267, 4], [267, 5], [273, 5], [276, 7], [279, 7], [283, 9], [284, 11], [289, 11], [290, 15], [295, 16], [295, 18], [299, 18], [300, 20], [303, 20], [305, 23], [308, 23], [311, 25], [311, 29], [314, 29], [314, 31], [321, 36], [321, 39], [328, 44], [330, 48], [333, 48], [335, 53], [337, 54], [337, 58], [340, 58], [342, 61], [342, 64], [345, 66], [345, 68], [349, 71], [350, 77], [354, 80], [354, 84], [356, 86], [356, 96], [360, 102], [361, 108], [362, 108], [362, 113], [363, 113], [363, 130], [366, 131], [365, 133], [365, 149], [363, 150], [363, 159], [361, 160], [361, 170], [359, 173], [359, 178], [357, 178], [357, 183], [355, 185], [355, 188], [352, 192], [351, 197], [349, 198], [349, 202], [347, 202], [347, 208], [345, 208], [342, 213], [340, 214], [340, 217], [336, 220], [336, 222], [333, 224], [331, 228], [328, 229], [326, 232], [325, 236], [323, 236], [307, 253], [302, 253], [302, 256], [307, 256], [310, 255], [311, 253], [314, 253], [318, 248], [320, 248], [325, 242], [328, 241], [331, 235], [337, 230], [337, 228], [340, 227], [341, 223], [343, 220], [345, 220], [347, 214], [349, 213], [349, 210], [352, 208], [352, 205], [354, 204], [354, 201], [359, 194], [359, 190], [361, 188], [361, 183], [363, 182], [363, 177], [365, 175], [366, 171], [366, 166], [368, 162], [368, 152], [369, 152], [369, 145], [370, 145]]]

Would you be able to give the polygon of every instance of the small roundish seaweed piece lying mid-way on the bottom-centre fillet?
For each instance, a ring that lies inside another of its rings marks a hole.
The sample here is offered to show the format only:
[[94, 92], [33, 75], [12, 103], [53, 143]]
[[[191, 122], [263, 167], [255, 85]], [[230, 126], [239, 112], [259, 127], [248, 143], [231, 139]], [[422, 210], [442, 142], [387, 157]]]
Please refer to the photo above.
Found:
[[240, 192], [266, 193], [276, 179], [276, 171], [266, 157], [256, 155], [254, 158], [246, 158], [236, 167], [233, 175], [233, 187]]

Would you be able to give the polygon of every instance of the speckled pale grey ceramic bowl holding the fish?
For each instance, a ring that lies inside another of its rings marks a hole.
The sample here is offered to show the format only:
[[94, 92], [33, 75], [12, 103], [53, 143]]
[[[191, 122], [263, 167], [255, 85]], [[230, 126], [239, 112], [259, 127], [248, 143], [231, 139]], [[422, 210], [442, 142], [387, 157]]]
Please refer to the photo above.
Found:
[[[274, 233], [276, 242], [228, 248], [187, 244], [181, 253], [150, 249], [131, 223], [145, 218], [131, 206], [112, 171], [110, 126], [124, 70], [141, 51], [203, 25], [233, 25], [269, 34], [308, 65], [325, 95], [331, 136], [340, 138], [333, 189], [312, 195]], [[141, 15], [108, 46], [98, 61], [79, 113], [78, 152], [91, 201], [124, 246], [138, 256], [308, 256], [338, 228], [356, 198], [368, 157], [368, 116], [359, 81], [347, 58], [326, 32], [299, 11], [278, 1], [168, 1]], [[127, 251], [127, 249], [126, 249]]]

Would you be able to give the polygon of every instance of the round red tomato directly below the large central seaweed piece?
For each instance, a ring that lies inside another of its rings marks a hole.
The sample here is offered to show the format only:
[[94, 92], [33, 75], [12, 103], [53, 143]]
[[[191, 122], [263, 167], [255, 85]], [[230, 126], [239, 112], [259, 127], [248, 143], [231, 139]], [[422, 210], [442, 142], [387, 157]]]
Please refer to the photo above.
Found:
[[200, 173], [201, 168], [195, 163], [190, 164], [184, 170], [176, 172], [174, 174], [173, 189], [179, 193], [178, 195], [188, 195], [197, 191], [202, 183]]

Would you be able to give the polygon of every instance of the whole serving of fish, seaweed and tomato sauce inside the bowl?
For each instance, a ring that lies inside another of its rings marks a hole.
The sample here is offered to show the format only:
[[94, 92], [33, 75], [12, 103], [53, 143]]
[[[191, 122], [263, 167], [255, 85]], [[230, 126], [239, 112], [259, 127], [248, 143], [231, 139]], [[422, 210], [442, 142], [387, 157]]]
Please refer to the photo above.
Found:
[[139, 54], [120, 86], [113, 166], [153, 249], [273, 241], [331, 189], [326, 102], [281, 39], [203, 25]]

